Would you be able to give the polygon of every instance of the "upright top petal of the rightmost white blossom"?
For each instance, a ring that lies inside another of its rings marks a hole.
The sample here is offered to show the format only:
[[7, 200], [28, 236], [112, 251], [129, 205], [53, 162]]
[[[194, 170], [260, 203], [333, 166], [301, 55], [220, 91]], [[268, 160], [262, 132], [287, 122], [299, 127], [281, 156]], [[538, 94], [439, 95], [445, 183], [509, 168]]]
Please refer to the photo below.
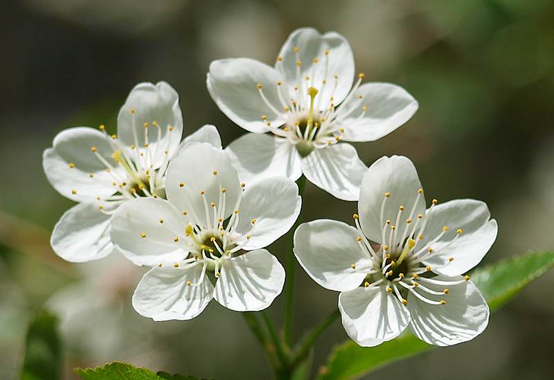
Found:
[[[396, 223], [398, 210], [404, 206], [400, 215], [397, 234], [402, 236], [409, 215], [425, 215], [425, 197], [419, 194], [421, 188], [418, 172], [413, 163], [404, 156], [383, 156], [373, 163], [361, 181], [358, 212], [361, 229], [373, 242], [382, 244], [382, 229], [387, 219]], [[381, 207], [386, 198], [381, 220]]]

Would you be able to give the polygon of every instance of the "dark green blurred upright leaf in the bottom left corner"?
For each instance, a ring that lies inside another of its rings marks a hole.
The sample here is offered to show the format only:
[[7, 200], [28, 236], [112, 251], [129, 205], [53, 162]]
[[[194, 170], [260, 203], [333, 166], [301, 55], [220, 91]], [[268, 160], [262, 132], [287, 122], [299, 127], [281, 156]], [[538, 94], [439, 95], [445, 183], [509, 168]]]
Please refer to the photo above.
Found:
[[21, 380], [57, 380], [62, 377], [62, 344], [57, 317], [41, 310], [29, 325]]

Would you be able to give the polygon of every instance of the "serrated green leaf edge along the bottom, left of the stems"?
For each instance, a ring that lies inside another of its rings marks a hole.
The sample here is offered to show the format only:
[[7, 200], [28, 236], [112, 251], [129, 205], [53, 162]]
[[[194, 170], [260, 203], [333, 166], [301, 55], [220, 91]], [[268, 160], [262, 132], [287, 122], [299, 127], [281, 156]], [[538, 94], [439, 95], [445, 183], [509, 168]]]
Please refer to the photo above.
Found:
[[122, 361], [113, 361], [96, 368], [76, 368], [75, 373], [84, 380], [208, 380], [186, 374], [155, 373], [148, 368], [136, 368]]

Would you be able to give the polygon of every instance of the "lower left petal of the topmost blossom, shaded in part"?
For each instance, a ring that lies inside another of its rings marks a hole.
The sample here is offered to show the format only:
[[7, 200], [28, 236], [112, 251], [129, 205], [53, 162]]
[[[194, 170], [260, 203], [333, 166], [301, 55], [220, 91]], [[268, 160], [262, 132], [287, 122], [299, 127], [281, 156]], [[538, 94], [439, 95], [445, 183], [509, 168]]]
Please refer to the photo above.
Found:
[[286, 138], [245, 134], [229, 144], [225, 151], [240, 180], [246, 183], [270, 177], [288, 177], [296, 181], [302, 175], [300, 156]]

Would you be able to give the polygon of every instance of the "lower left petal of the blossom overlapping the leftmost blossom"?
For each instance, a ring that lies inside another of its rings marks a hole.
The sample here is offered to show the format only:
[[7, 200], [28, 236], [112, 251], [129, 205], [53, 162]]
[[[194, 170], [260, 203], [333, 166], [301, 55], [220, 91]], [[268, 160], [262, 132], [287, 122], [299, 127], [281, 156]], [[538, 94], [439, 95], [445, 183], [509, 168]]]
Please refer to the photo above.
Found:
[[213, 285], [206, 276], [198, 286], [202, 265], [186, 269], [154, 266], [142, 278], [133, 294], [134, 309], [153, 320], [188, 320], [195, 318], [213, 298]]

